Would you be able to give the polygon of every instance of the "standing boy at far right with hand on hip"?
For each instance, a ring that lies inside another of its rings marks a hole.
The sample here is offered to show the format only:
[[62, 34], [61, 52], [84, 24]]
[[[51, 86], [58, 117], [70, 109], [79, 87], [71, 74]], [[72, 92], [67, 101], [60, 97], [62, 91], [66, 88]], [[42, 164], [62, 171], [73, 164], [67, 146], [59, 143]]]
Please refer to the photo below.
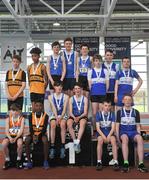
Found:
[[[138, 84], [135, 89], [133, 89], [133, 80], [137, 79]], [[132, 97], [137, 93], [142, 85], [142, 79], [139, 74], [130, 68], [130, 59], [124, 57], [122, 59], [122, 70], [116, 73], [116, 83], [115, 83], [115, 103], [117, 109], [123, 106], [122, 99], [125, 94], [131, 94]], [[132, 102], [133, 103], [133, 102]]]

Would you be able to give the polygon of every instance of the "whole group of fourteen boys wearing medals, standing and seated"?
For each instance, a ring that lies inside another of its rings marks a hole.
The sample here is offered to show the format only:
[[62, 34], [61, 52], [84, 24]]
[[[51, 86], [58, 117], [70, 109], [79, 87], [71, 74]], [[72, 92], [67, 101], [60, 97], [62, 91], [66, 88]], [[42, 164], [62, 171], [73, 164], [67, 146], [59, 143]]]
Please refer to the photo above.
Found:
[[[88, 55], [89, 47], [87, 44], [83, 43], [80, 46], [81, 56], [71, 50], [71, 38], [64, 40], [64, 46], [64, 52], [59, 53], [59, 42], [55, 41], [52, 44], [53, 54], [48, 57], [47, 66], [39, 62], [41, 54], [39, 48], [35, 47], [30, 51], [33, 64], [28, 66], [27, 72], [32, 114], [29, 117], [30, 135], [25, 140], [28, 159], [27, 168], [32, 168], [29, 145], [31, 141], [37, 143], [39, 140], [42, 140], [44, 147], [43, 166], [45, 169], [49, 167], [48, 138], [46, 135], [48, 119], [50, 121], [51, 146], [49, 156], [51, 159], [55, 157], [57, 125], [61, 128], [60, 158], [65, 158], [66, 127], [74, 142], [74, 150], [76, 153], [81, 151], [80, 140], [88, 120], [88, 99], [90, 94], [93, 114], [92, 125], [98, 140], [96, 169], [102, 169], [103, 143], [112, 144], [114, 169], [119, 169], [116, 144], [116, 141], [118, 141], [122, 144], [124, 158], [122, 171], [128, 172], [128, 141], [132, 139], [137, 143], [138, 169], [141, 172], [147, 172], [147, 168], [143, 163], [143, 140], [140, 135], [139, 125], [140, 115], [137, 110], [132, 108], [133, 96], [140, 88], [142, 79], [135, 70], [130, 68], [130, 59], [124, 57], [122, 59], [122, 69], [119, 70], [119, 67], [112, 62], [114, 55], [111, 50], [106, 50], [105, 62], [102, 63], [100, 55], [95, 55], [93, 58]], [[15, 55], [12, 63], [13, 68], [6, 75], [6, 92], [10, 114], [6, 121], [7, 137], [2, 143], [5, 154], [5, 169], [10, 166], [8, 144], [13, 142], [18, 144], [17, 167], [21, 168], [20, 153], [22, 149], [20, 146], [22, 146], [22, 129], [24, 127], [24, 118], [21, 113], [18, 115], [18, 111], [21, 111], [23, 106], [23, 90], [26, 82], [25, 72], [20, 68], [21, 59], [19, 56]], [[134, 78], [138, 80], [138, 84], [133, 90]], [[48, 97], [52, 111], [50, 117], [44, 112], [43, 108], [48, 81], [51, 90], [51, 95]], [[115, 105], [118, 110], [116, 118], [113, 112]], [[73, 125], [78, 123], [80, 128], [76, 137]], [[13, 131], [15, 133], [11, 134]]]

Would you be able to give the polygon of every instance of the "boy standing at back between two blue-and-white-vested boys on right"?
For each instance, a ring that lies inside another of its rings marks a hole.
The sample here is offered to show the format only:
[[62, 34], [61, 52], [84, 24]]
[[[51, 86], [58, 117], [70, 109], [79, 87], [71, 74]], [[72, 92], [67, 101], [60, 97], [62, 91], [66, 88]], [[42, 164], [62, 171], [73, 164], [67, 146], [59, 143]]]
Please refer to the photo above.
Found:
[[115, 77], [116, 72], [119, 70], [119, 65], [112, 62], [114, 58], [113, 51], [106, 49], [105, 51], [105, 62], [103, 63], [103, 68], [107, 69], [109, 73], [109, 89], [107, 91], [107, 99], [111, 101], [112, 110], [114, 111], [114, 87], [115, 87]]

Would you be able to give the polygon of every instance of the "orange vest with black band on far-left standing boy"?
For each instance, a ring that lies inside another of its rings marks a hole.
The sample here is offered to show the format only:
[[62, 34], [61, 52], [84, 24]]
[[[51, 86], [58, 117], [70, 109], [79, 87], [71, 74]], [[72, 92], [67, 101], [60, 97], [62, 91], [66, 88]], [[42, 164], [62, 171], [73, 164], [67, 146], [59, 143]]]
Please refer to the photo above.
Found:
[[[13, 70], [8, 71], [8, 91], [11, 96], [14, 96], [17, 94], [17, 92], [20, 90], [22, 87], [22, 70], [20, 69], [17, 76], [15, 77], [13, 81], [12, 73]], [[23, 96], [23, 92], [19, 95], [19, 97]]]

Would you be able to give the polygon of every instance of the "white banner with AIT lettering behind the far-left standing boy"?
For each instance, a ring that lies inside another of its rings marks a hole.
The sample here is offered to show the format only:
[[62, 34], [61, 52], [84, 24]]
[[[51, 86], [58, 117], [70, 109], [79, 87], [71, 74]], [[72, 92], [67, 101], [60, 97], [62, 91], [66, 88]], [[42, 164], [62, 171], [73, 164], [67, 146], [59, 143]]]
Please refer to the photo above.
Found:
[[27, 52], [26, 52], [26, 39], [10, 39], [5, 38], [1, 40], [1, 70], [5, 71], [12, 67], [13, 55], [21, 56], [21, 67], [26, 70], [27, 65]]

